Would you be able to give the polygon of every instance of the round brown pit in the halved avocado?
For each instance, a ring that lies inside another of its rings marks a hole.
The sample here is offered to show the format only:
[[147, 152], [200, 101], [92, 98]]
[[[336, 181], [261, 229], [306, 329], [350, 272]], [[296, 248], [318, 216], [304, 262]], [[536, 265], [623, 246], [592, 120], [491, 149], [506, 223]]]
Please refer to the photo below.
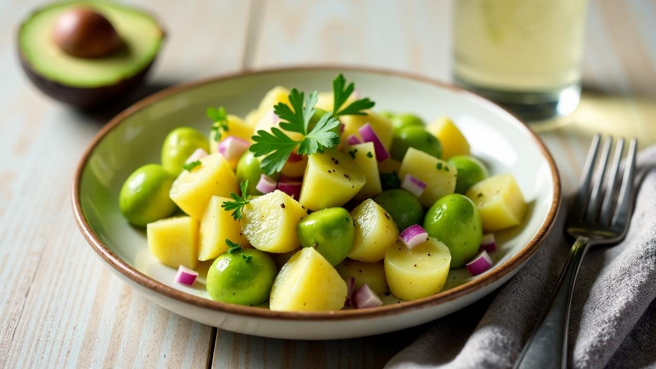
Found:
[[78, 58], [101, 58], [115, 53], [123, 42], [112, 23], [87, 7], [73, 7], [58, 18], [54, 43]]

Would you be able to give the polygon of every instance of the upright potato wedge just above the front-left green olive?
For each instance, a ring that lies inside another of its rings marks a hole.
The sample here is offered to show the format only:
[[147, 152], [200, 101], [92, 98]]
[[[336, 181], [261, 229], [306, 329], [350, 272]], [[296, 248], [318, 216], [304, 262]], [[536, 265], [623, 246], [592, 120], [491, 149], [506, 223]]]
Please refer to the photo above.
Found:
[[249, 246], [248, 240], [241, 234], [241, 226], [221, 205], [232, 198], [212, 196], [201, 219], [199, 229], [198, 260], [215, 259], [228, 251], [226, 238], [242, 248]]

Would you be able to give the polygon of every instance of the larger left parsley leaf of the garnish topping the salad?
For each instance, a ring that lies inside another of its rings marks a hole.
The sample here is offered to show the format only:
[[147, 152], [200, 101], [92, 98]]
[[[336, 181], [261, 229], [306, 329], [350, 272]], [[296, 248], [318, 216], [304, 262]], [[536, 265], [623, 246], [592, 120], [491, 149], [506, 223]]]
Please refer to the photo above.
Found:
[[281, 171], [287, 159], [294, 150], [300, 155], [312, 155], [323, 152], [324, 148], [331, 148], [339, 144], [339, 136], [332, 131], [339, 125], [339, 121], [331, 113], [326, 113], [308, 130], [310, 118], [316, 110], [314, 106], [318, 100], [318, 93], [314, 91], [307, 97], [305, 93], [292, 89], [289, 94], [289, 105], [279, 102], [274, 106], [274, 113], [282, 119], [280, 128], [289, 132], [303, 135], [300, 141], [291, 139], [281, 129], [272, 127], [271, 132], [257, 131], [253, 136], [255, 143], [249, 148], [255, 156], [264, 156], [260, 167], [264, 173], [271, 175]]

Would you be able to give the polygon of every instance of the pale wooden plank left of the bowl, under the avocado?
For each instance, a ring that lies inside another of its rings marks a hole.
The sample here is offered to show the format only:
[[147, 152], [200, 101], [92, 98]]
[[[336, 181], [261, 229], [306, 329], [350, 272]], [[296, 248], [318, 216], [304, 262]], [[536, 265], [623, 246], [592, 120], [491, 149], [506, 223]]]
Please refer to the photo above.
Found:
[[0, 368], [205, 367], [214, 329], [113, 276], [79, 234], [69, 190], [87, 142], [126, 102], [241, 68], [249, 1], [138, 4], [171, 30], [154, 83], [93, 115], [43, 97], [20, 71], [14, 28], [35, 5], [0, 4]]

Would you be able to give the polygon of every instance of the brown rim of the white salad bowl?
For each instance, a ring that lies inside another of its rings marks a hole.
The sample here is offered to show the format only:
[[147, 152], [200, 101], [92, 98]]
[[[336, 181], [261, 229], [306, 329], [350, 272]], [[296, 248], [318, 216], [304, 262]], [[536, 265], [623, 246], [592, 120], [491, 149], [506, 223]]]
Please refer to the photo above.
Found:
[[[533, 137], [533, 140], [539, 146], [544, 158], [546, 158], [549, 164], [552, 179], [553, 179], [554, 192], [553, 192], [552, 203], [546, 219], [544, 220], [543, 224], [541, 225], [535, 236], [533, 236], [531, 241], [527, 243], [520, 251], [518, 251], [515, 255], [510, 257], [510, 259], [508, 259], [507, 261], [505, 261], [504, 263], [493, 269], [491, 272], [487, 274], [483, 274], [483, 276], [471, 280], [470, 282], [466, 282], [465, 284], [461, 284], [460, 286], [451, 288], [451, 290], [446, 290], [444, 292], [436, 293], [435, 295], [427, 296], [422, 299], [406, 301], [395, 305], [384, 305], [381, 307], [361, 309], [361, 310], [353, 309], [353, 310], [324, 311], [324, 312], [271, 311], [269, 309], [262, 309], [258, 307], [248, 307], [242, 305], [234, 305], [230, 303], [221, 303], [218, 301], [205, 299], [203, 297], [198, 297], [190, 293], [182, 292], [174, 288], [171, 288], [161, 282], [158, 282], [157, 280], [154, 280], [153, 278], [150, 278], [149, 276], [146, 276], [145, 274], [142, 274], [141, 272], [137, 271], [136, 269], [128, 265], [125, 261], [123, 261], [123, 259], [118, 257], [115, 253], [113, 253], [109, 248], [107, 248], [107, 246], [103, 244], [100, 238], [98, 238], [98, 235], [91, 228], [91, 225], [89, 225], [87, 218], [85, 217], [82, 210], [81, 198], [80, 198], [81, 177], [82, 177], [83, 169], [87, 165], [89, 157], [91, 156], [96, 145], [100, 141], [102, 141], [102, 139], [108, 133], [110, 133], [112, 129], [117, 127], [123, 120], [131, 116], [131, 114], [134, 114], [135, 112], [138, 112], [139, 110], [142, 110], [146, 106], [156, 102], [157, 100], [161, 100], [162, 98], [170, 97], [177, 93], [182, 93], [190, 89], [194, 89], [195, 87], [199, 87], [201, 85], [215, 83], [218, 81], [224, 81], [227, 79], [254, 76], [258, 74], [297, 72], [297, 71], [321, 71], [321, 70], [332, 70], [332, 71], [344, 70], [346, 72], [364, 72], [364, 73], [371, 73], [371, 74], [379, 74], [382, 76], [395, 76], [405, 79], [413, 79], [415, 81], [429, 83], [431, 85], [435, 85], [441, 88], [455, 91], [456, 93], [464, 95], [468, 98], [473, 98], [478, 103], [483, 104], [488, 108], [491, 108], [492, 110], [496, 110], [500, 114], [506, 115], [509, 118], [511, 118], [510, 120], [512, 121], [512, 124], [516, 125], [518, 129], [524, 130], [525, 132], [529, 133], [529, 135]], [[447, 301], [452, 301], [453, 299], [457, 299], [458, 297], [467, 295], [468, 293], [472, 293], [477, 290], [480, 290], [481, 288], [488, 286], [489, 284], [499, 280], [500, 278], [502, 278], [509, 272], [513, 271], [514, 269], [520, 267], [520, 265], [522, 265], [523, 262], [525, 262], [531, 255], [533, 255], [533, 253], [535, 253], [535, 251], [537, 251], [537, 249], [541, 246], [541, 244], [544, 241], [544, 238], [546, 238], [548, 232], [550, 231], [550, 229], [554, 224], [554, 220], [556, 219], [556, 215], [558, 214], [558, 210], [560, 209], [560, 199], [561, 199], [560, 175], [558, 174], [556, 163], [554, 162], [554, 159], [552, 158], [550, 152], [547, 150], [546, 146], [544, 146], [544, 143], [541, 141], [541, 139], [537, 137], [537, 135], [535, 135], [535, 133], [533, 133], [533, 131], [531, 131], [531, 129], [529, 129], [527, 125], [522, 123], [522, 121], [516, 116], [514, 116], [512, 113], [508, 112], [504, 108], [501, 108], [501, 106], [498, 106], [497, 104], [481, 97], [480, 95], [476, 95], [475, 93], [466, 91], [461, 87], [457, 87], [450, 83], [438, 81], [436, 79], [432, 79], [426, 76], [420, 76], [409, 72], [388, 70], [384, 68], [373, 68], [373, 67], [366, 67], [366, 66], [324, 65], [324, 64], [310, 65], [310, 66], [308, 65], [285, 66], [280, 68], [267, 68], [262, 70], [244, 70], [236, 73], [222, 74], [215, 77], [207, 77], [204, 79], [199, 79], [197, 81], [175, 85], [173, 87], [169, 87], [167, 89], [154, 93], [153, 95], [150, 95], [146, 98], [143, 98], [142, 100], [134, 103], [129, 108], [123, 110], [123, 112], [119, 113], [117, 116], [112, 118], [102, 129], [100, 129], [100, 131], [96, 134], [94, 139], [92, 139], [91, 143], [89, 143], [89, 145], [85, 149], [85, 152], [83, 153], [77, 165], [77, 169], [75, 169], [75, 177], [73, 177], [73, 184], [72, 184], [72, 203], [73, 203], [73, 213], [75, 215], [75, 222], [77, 223], [80, 231], [82, 232], [87, 242], [89, 242], [89, 245], [91, 245], [91, 248], [94, 251], [96, 251], [96, 253], [98, 253], [98, 255], [106, 263], [112, 266], [113, 269], [116, 269], [116, 271], [123, 274], [123, 276], [129, 278], [133, 282], [136, 282], [137, 284], [140, 284], [141, 286], [144, 286], [154, 292], [161, 293], [166, 297], [175, 299], [177, 301], [181, 301], [183, 303], [194, 305], [195, 307], [211, 309], [213, 311], [218, 311], [221, 313], [248, 316], [251, 318], [255, 317], [255, 318], [264, 318], [264, 319], [287, 319], [287, 320], [335, 320], [335, 319], [374, 318], [374, 317], [385, 316], [385, 315], [394, 315], [394, 314], [405, 313], [407, 311], [412, 311], [415, 309], [431, 307], [434, 305], [438, 305], [440, 303], [445, 303]]]

